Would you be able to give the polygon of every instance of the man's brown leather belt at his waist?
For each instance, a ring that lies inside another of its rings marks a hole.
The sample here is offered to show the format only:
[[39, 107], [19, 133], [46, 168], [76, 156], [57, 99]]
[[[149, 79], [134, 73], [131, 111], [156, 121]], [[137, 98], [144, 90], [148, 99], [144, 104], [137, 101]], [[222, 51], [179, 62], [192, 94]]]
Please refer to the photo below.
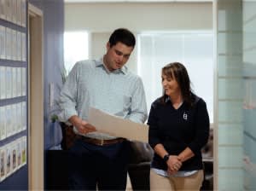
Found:
[[104, 140], [104, 139], [95, 139], [95, 138], [90, 138], [88, 136], [79, 136], [79, 135], [78, 135], [78, 139], [82, 140], [83, 142], [87, 142], [87, 143], [90, 143], [92, 145], [99, 145], [99, 146], [111, 145], [111, 144], [116, 144], [116, 143], [125, 141], [124, 138]]

